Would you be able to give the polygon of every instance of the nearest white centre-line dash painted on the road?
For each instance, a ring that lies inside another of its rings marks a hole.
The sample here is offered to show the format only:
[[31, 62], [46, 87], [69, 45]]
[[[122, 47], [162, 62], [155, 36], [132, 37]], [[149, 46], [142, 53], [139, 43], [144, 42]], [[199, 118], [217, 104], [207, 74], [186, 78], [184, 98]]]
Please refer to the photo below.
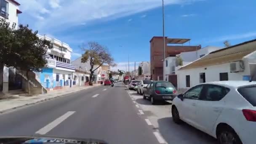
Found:
[[54, 127], [59, 125], [61, 122], [66, 120], [69, 116], [71, 116], [74, 113], [75, 113], [74, 111], [69, 111], [69, 112], [65, 113], [64, 115], [58, 117], [56, 120], [53, 120], [53, 122], [49, 123], [48, 125], [45, 125], [45, 127], [41, 128], [39, 131], [37, 131], [35, 133], [38, 133], [38, 134], [48, 133], [48, 131], [51, 131], [51, 129], [53, 129]]

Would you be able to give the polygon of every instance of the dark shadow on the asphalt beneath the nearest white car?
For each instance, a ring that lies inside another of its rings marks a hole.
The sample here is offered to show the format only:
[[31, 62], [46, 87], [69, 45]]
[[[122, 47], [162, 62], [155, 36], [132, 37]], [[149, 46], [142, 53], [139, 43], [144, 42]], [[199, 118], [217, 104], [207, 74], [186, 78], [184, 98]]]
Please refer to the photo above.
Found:
[[216, 139], [187, 123], [177, 125], [172, 117], [161, 118], [157, 122], [158, 130], [169, 144], [217, 144]]

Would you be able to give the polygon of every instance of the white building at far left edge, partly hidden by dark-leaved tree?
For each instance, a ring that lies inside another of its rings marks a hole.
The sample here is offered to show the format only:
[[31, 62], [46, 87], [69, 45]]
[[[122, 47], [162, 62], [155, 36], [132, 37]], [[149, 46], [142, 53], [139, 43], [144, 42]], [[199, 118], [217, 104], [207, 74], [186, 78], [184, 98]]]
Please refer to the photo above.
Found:
[[[18, 16], [22, 13], [19, 10], [19, 3], [16, 0], [0, 0], [0, 19], [6, 19], [10, 27], [18, 28]], [[9, 69], [4, 67], [0, 69], [0, 91], [8, 92]]]

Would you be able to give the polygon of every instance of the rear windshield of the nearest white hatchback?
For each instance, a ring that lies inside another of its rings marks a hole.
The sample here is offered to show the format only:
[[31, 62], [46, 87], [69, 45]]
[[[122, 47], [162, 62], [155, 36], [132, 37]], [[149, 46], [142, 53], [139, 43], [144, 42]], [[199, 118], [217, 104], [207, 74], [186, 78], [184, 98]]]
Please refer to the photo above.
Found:
[[238, 88], [237, 91], [249, 102], [256, 107], [256, 86]]

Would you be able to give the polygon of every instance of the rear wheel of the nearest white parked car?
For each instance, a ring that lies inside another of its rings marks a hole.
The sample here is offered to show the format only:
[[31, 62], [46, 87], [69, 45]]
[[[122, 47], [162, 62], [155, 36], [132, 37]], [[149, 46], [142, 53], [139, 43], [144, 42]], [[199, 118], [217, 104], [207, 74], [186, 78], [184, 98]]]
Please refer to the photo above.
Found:
[[229, 126], [224, 126], [219, 130], [217, 139], [219, 144], [243, 144], [234, 129]]

